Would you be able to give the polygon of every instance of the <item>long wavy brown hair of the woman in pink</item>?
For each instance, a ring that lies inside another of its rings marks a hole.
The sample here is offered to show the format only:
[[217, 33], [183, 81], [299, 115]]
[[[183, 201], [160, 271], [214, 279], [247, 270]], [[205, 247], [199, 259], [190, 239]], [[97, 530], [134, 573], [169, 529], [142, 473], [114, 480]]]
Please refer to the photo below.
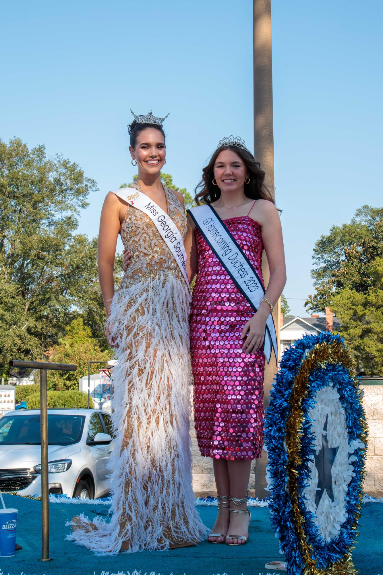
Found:
[[246, 165], [247, 173], [249, 174], [250, 182], [245, 182], [245, 196], [251, 200], [269, 200], [275, 205], [275, 200], [273, 194], [270, 192], [268, 187], [265, 186], [265, 172], [261, 170], [261, 164], [256, 162], [253, 154], [246, 150], [245, 148], [239, 148], [238, 146], [223, 145], [217, 148], [214, 154], [210, 158], [210, 162], [202, 170], [202, 179], [195, 189], [195, 202], [199, 206], [201, 202], [203, 204], [211, 204], [220, 198], [220, 189], [218, 186], [214, 186], [212, 181], [214, 179], [214, 164], [218, 155], [223, 150], [233, 150], [241, 160]]

